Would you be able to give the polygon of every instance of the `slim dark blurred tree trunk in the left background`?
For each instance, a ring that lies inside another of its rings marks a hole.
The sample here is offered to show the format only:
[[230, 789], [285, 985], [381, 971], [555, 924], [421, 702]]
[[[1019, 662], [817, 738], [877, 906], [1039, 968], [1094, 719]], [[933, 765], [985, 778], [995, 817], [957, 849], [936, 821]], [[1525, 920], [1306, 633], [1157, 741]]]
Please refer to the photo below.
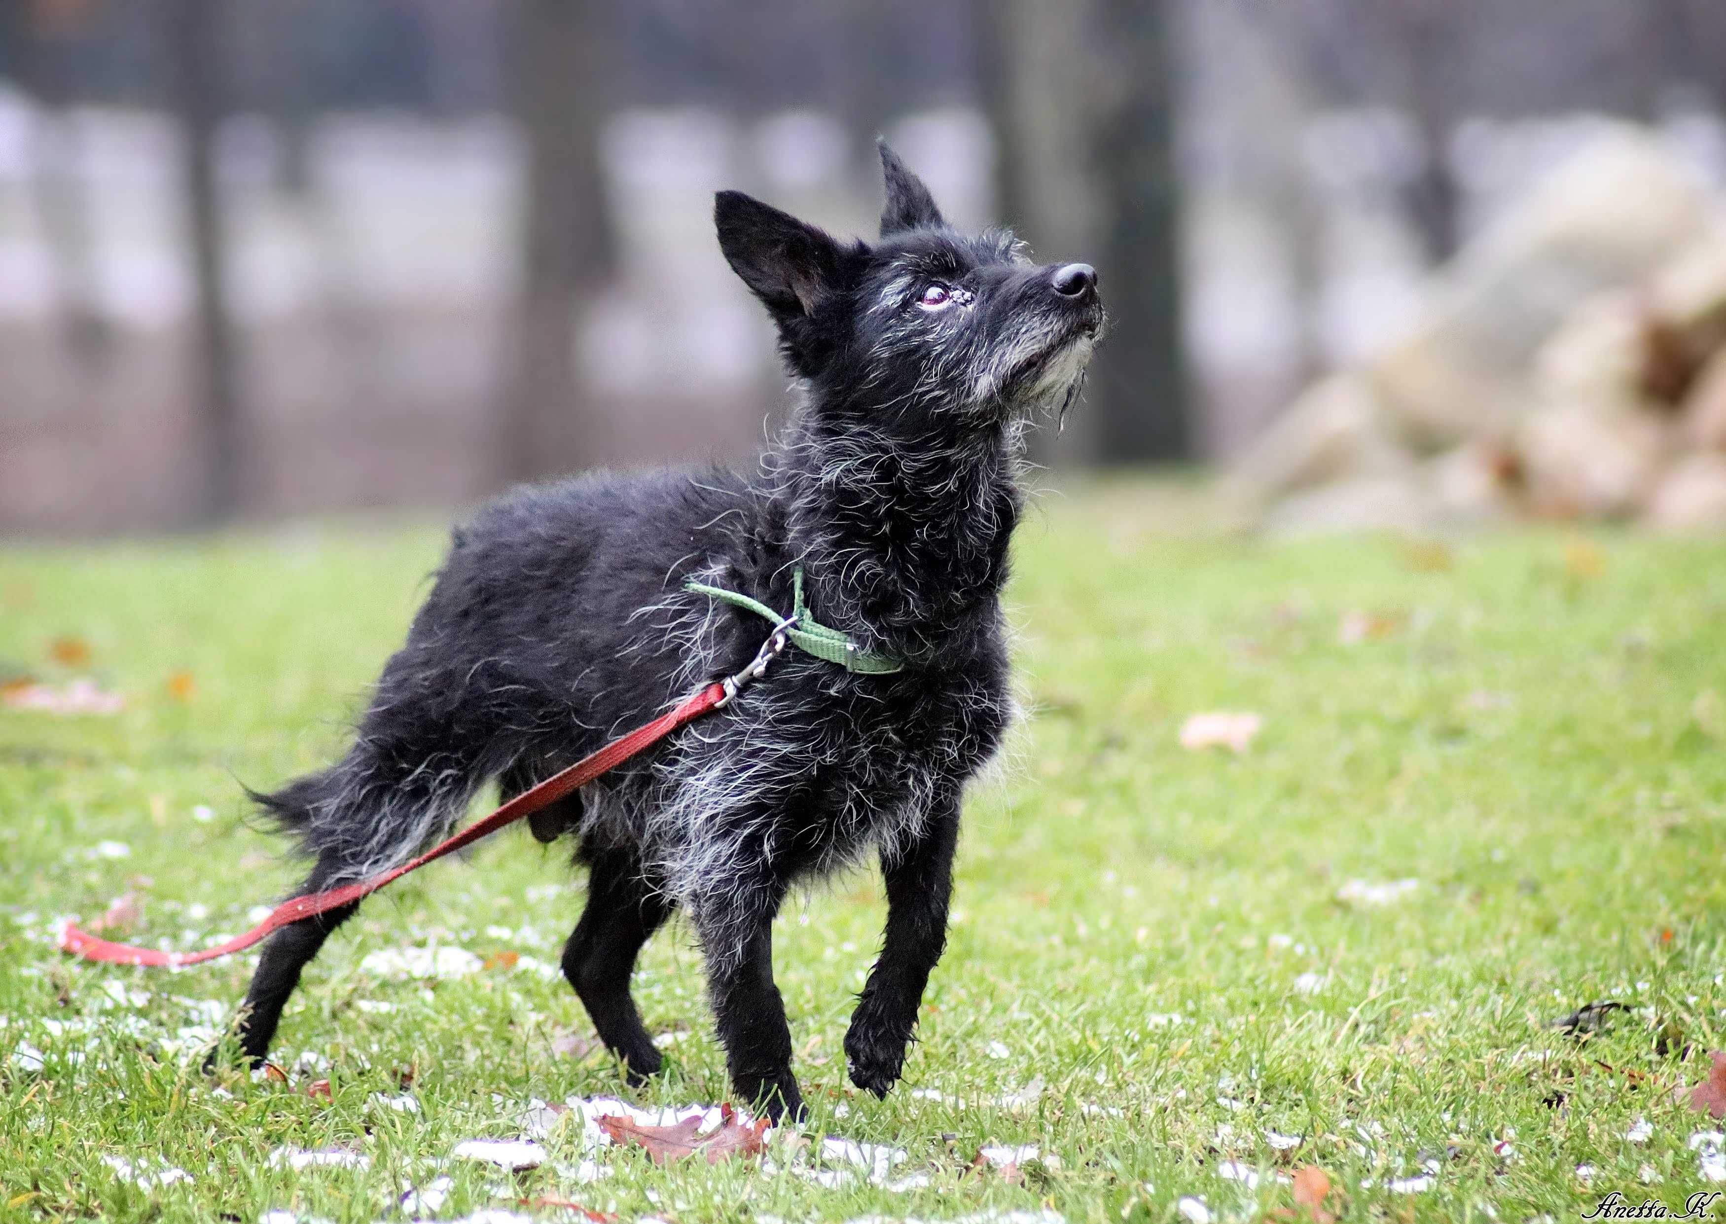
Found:
[[236, 340], [228, 309], [223, 200], [216, 181], [224, 5], [221, 0], [161, 3], [181, 129], [180, 178], [197, 285], [197, 397], [204, 447], [198, 518], [209, 523], [230, 518], [240, 508], [243, 428]]

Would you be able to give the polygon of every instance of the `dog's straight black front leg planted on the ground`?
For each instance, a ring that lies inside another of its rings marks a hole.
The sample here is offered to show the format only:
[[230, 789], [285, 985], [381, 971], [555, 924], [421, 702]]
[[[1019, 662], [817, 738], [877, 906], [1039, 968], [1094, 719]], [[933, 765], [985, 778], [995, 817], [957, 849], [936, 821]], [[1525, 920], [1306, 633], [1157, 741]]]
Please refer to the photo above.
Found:
[[708, 994], [732, 1088], [778, 1122], [806, 1114], [791, 1072], [791, 1025], [773, 984], [773, 915], [785, 898], [773, 879], [728, 880], [694, 912], [708, 962]]

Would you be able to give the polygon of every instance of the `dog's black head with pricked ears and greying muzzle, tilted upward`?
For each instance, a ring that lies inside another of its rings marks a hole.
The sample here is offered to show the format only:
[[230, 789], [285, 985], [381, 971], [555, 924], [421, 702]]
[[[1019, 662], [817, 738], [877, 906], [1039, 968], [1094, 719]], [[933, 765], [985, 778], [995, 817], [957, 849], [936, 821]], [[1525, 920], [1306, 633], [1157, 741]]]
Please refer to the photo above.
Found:
[[1063, 409], [1103, 328], [1089, 264], [1032, 264], [1006, 231], [965, 237], [880, 145], [880, 240], [841, 242], [742, 192], [720, 192], [720, 249], [778, 325], [818, 401], [977, 423]]

